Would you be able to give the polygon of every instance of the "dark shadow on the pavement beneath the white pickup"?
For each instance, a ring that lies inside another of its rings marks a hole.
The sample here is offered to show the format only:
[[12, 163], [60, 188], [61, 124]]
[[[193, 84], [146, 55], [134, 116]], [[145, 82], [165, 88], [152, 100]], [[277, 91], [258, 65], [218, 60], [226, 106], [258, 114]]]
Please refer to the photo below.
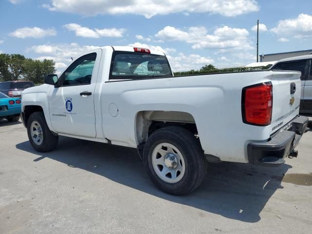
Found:
[[[291, 166], [265, 168], [243, 163], [210, 164], [202, 185], [190, 195], [174, 196], [159, 191], [144, 171], [136, 149], [60, 137], [58, 148], [36, 152], [29, 141], [16, 148], [113, 180], [141, 192], [244, 222], [257, 222], [260, 212], [280, 185]], [[279, 179], [272, 179], [279, 178]]]

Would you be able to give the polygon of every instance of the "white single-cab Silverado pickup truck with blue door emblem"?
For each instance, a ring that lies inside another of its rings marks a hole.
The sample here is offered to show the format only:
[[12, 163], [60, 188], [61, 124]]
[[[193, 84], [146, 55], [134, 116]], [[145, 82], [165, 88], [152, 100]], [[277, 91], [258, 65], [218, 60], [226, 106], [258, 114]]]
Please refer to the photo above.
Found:
[[280, 165], [297, 156], [300, 72], [253, 71], [174, 77], [163, 53], [105, 46], [22, 93], [32, 146], [59, 136], [137, 148], [163, 191], [193, 191], [207, 162]]

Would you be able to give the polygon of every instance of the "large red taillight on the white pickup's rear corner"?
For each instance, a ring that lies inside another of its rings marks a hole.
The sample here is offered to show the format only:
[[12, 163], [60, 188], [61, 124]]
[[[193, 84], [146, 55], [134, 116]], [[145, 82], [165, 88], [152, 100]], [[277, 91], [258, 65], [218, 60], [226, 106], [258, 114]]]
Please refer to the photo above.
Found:
[[243, 122], [266, 126], [271, 124], [273, 105], [273, 86], [271, 82], [243, 88]]

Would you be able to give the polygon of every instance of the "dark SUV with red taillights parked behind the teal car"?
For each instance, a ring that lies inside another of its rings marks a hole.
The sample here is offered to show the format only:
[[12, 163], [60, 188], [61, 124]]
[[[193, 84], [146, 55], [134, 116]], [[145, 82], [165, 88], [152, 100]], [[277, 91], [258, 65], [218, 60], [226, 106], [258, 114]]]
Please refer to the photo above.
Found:
[[0, 82], [0, 92], [12, 98], [20, 98], [24, 89], [33, 86], [32, 81], [5, 81]]

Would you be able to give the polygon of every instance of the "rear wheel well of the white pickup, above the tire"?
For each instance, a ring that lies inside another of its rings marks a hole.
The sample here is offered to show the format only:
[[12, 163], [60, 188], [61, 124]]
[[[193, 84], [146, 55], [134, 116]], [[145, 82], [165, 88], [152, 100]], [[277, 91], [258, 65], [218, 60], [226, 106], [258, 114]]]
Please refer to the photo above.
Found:
[[195, 119], [187, 112], [141, 111], [136, 118], [137, 143], [145, 142], [156, 130], [169, 126], [179, 126], [198, 134]]

